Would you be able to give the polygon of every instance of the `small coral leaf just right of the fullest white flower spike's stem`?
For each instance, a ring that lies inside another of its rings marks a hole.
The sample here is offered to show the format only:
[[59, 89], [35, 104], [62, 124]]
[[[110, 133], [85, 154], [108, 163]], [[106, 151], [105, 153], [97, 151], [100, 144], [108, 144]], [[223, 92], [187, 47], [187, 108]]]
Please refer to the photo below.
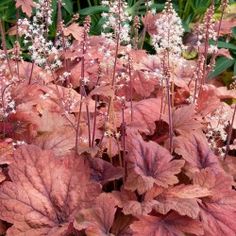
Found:
[[183, 106], [173, 112], [173, 128], [179, 134], [189, 134], [201, 129], [201, 123], [196, 120], [194, 105]]

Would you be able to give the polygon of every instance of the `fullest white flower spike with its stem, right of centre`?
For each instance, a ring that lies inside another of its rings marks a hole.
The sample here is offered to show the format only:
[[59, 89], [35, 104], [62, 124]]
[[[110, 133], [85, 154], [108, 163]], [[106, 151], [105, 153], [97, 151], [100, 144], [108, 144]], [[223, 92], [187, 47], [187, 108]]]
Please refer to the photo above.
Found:
[[[157, 34], [153, 36], [152, 43], [163, 62], [163, 77], [167, 91], [170, 152], [173, 150], [173, 120], [172, 106], [174, 105], [174, 81], [171, 80], [171, 69], [181, 61], [184, 49], [182, 36], [184, 29], [180, 17], [175, 12], [170, 0], [165, 4], [164, 10], [155, 22]], [[172, 90], [172, 95], [171, 95]]]

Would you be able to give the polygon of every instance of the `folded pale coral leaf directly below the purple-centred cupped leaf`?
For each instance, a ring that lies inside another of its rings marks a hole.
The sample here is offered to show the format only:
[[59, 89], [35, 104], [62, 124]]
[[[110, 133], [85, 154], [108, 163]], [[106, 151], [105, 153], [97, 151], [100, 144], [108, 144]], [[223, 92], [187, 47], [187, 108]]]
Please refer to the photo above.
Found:
[[196, 219], [200, 211], [198, 198], [210, 194], [211, 192], [207, 188], [199, 185], [177, 185], [164, 190], [155, 198], [157, 203], [154, 209], [161, 214], [167, 214], [170, 210], [175, 210], [180, 215]]

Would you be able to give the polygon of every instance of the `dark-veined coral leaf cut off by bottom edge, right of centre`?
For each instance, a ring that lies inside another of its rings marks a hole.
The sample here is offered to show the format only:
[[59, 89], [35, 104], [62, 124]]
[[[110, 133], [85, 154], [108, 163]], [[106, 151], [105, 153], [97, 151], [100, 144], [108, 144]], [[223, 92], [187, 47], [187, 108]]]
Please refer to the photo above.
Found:
[[131, 224], [133, 236], [183, 236], [185, 233], [203, 235], [199, 221], [171, 213], [163, 217], [142, 216]]

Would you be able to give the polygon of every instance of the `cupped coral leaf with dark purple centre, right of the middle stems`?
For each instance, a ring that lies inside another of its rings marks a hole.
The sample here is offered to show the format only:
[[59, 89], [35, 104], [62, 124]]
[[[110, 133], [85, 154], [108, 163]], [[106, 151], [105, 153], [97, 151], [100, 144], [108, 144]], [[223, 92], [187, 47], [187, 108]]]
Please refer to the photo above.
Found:
[[140, 135], [130, 133], [127, 146], [126, 189], [142, 194], [154, 183], [165, 188], [178, 183], [175, 175], [181, 171], [183, 160], [172, 160], [168, 150], [154, 142], [143, 141]]

